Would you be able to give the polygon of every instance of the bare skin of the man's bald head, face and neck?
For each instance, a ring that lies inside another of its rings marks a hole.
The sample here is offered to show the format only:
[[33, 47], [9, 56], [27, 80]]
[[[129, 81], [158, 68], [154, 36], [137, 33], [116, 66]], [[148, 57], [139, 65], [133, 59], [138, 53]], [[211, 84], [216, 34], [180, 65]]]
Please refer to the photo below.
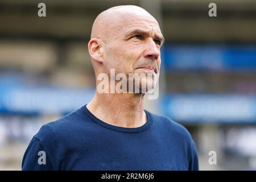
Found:
[[[115, 6], [94, 20], [88, 49], [96, 75], [115, 69], [115, 74], [160, 70], [160, 47], [164, 41], [156, 19], [138, 6]], [[134, 79], [134, 78], [133, 78]], [[141, 80], [142, 82], [147, 80]], [[87, 105], [102, 121], [119, 127], [139, 127], [147, 121], [144, 93], [96, 93]]]

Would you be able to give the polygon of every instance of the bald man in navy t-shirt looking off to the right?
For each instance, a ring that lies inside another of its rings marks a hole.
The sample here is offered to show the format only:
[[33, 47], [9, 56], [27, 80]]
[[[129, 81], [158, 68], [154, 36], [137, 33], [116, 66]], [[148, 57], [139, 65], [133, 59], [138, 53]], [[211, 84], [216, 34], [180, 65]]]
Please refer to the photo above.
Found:
[[[88, 43], [96, 93], [88, 104], [39, 130], [24, 154], [22, 169], [198, 170], [188, 131], [144, 110], [147, 86], [155, 85], [159, 76], [163, 41], [158, 22], [141, 7], [117, 6], [98, 15]], [[112, 71], [127, 76], [119, 87], [122, 92], [111, 92], [118, 84]], [[138, 80], [136, 73], [151, 79]], [[102, 92], [98, 78], [105, 76], [110, 78]]]

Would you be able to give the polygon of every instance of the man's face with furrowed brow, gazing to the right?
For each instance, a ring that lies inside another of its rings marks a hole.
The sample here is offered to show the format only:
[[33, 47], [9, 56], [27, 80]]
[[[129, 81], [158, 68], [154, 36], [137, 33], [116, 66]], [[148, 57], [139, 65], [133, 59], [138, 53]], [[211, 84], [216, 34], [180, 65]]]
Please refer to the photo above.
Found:
[[[124, 18], [117, 24], [108, 42], [105, 43], [105, 69], [115, 69], [115, 74], [144, 73], [158, 78], [160, 70], [160, 47], [163, 35], [159, 25], [151, 16], [135, 16]], [[139, 81], [148, 84], [147, 79]]]

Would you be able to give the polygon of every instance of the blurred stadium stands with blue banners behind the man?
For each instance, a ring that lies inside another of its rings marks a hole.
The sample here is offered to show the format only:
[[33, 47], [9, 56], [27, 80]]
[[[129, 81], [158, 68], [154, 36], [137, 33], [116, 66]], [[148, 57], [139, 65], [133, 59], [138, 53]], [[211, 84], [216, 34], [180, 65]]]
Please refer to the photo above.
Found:
[[[208, 16], [210, 2], [217, 17]], [[249, 0], [1, 0], [0, 170], [20, 170], [42, 125], [90, 101], [90, 29], [117, 5], [146, 9], [167, 40], [160, 97], [147, 109], [187, 127], [201, 170], [255, 170], [256, 1]], [[209, 151], [217, 152], [216, 165]]]

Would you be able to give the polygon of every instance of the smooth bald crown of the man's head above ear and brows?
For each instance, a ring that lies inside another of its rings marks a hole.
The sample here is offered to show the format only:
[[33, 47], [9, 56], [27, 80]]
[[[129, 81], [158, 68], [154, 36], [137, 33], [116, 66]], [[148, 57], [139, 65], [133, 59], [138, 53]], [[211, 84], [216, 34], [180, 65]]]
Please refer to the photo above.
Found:
[[127, 23], [133, 22], [134, 19], [140, 19], [140, 17], [158, 24], [150, 13], [139, 6], [125, 5], [111, 7], [100, 13], [94, 20], [90, 38], [108, 40], [121, 30], [121, 28], [126, 27]]

